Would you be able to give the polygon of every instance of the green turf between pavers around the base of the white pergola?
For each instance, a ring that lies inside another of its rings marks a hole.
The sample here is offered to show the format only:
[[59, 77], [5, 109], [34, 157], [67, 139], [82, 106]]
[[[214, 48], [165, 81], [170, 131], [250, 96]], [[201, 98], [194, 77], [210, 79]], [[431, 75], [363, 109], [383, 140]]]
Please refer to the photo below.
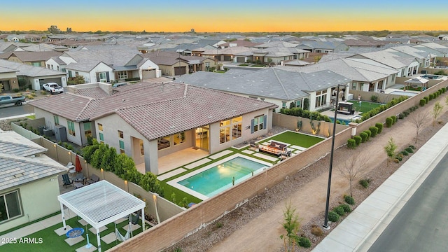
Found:
[[[81, 226], [80, 223], [78, 223], [78, 217], [74, 217], [66, 221], [67, 225], [70, 225], [71, 228], [83, 228], [85, 231], [85, 226]], [[120, 224], [117, 224], [118, 230], [120, 230], [122, 235], [125, 235], [126, 231], [123, 230], [123, 226], [127, 226], [128, 221], [123, 221]], [[141, 219], [140, 223], [141, 225]], [[17, 239], [17, 242], [15, 244], [4, 244], [3, 246], [0, 246], [0, 252], [7, 251], [7, 252], [49, 252], [49, 251], [75, 251], [77, 248], [80, 248], [81, 246], [87, 245], [87, 237], [84, 232], [83, 237], [84, 240], [78, 242], [77, 244], [74, 244], [73, 246], [69, 246], [64, 240], [67, 239], [66, 235], [58, 236], [54, 230], [57, 230], [58, 228], [62, 227], [62, 221], [61, 223], [58, 223], [57, 225], [53, 225], [50, 228], [45, 228], [44, 230], [35, 232], [34, 234], [28, 235], [27, 239], [33, 239], [35, 238], [35, 241], [38, 242], [41, 240], [40, 244], [32, 244], [32, 243], [26, 243], [23, 239]], [[115, 226], [113, 223], [106, 225], [107, 229], [100, 233], [101, 237], [104, 237], [105, 235], [108, 235], [111, 232], [115, 232]], [[87, 225], [87, 229], [92, 228], [90, 225]], [[68, 231], [68, 230], [67, 230]], [[97, 247], [97, 235], [94, 235], [94, 233], [89, 232], [89, 240], [90, 244]], [[137, 235], [141, 232], [141, 228], [138, 230], [134, 230], [133, 235]], [[25, 237], [24, 237], [25, 238]], [[116, 246], [119, 244], [120, 241], [113, 241], [111, 244], [106, 244], [102, 241], [102, 251], [106, 251], [109, 248], [112, 248], [113, 246]]]

